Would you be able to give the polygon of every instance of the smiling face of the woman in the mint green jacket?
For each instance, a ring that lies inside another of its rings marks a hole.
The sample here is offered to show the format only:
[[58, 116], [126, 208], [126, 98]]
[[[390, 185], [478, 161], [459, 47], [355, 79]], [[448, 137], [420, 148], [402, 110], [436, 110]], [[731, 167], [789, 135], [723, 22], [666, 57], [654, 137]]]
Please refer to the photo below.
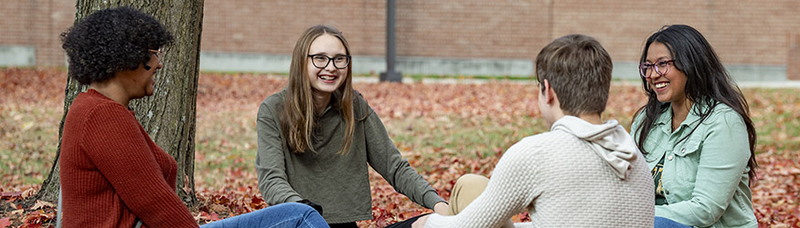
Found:
[[[647, 48], [647, 58], [645, 63], [655, 64], [663, 60], [671, 60], [672, 54], [663, 43], [654, 42]], [[661, 102], [683, 103], [686, 101], [686, 81], [687, 77], [675, 67], [675, 63], [667, 64], [669, 67], [667, 74], [659, 75], [656, 72], [649, 74], [646, 78], [647, 85], [656, 92], [656, 98]], [[664, 71], [659, 67], [659, 70]]]

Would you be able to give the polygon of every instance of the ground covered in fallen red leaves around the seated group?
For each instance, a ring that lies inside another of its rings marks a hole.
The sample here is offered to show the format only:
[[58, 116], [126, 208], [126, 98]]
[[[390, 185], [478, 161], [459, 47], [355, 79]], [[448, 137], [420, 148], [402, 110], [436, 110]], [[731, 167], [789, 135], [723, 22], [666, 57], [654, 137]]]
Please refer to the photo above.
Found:
[[[0, 69], [0, 228], [48, 227], [51, 202], [29, 199], [48, 175], [58, 147], [66, 71]], [[198, 223], [266, 205], [256, 184], [255, 115], [285, 76], [203, 73], [197, 94]], [[490, 175], [509, 146], [543, 132], [531, 81], [483, 84], [356, 83], [389, 135], [444, 199], [464, 173]], [[752, 202], [761, 227], [800, 227], [800, 95], [796, 88], [745, 88], [758, 131], [760, 168]], [[645, 102], [638, 83], [615, 82], [604, 119], [630, 125]], [[430, 210], [394, 192], [371, 172], [372, 221], [383, 227]], [[525, 220], [520, 214], [515, 220]]]

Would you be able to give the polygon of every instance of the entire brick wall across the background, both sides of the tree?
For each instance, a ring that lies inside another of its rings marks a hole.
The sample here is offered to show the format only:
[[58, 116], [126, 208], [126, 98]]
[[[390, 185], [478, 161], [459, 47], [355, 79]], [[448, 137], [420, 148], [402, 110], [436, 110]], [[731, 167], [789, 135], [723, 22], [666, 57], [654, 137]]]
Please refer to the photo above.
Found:
[[[315, 24], [342, 30], [353, 54], [382, 56], [385, 1], [208, 0], [202, 50], [290, 54]], [[534, 58], [553, 38], [600, 39], [615, 61], [635, 61], [645, 38], [666, 24], [698, 28], [726, 64], [788, 66], [800, 30], [796, 0], [400, 0], [397, 50], [412, 57]], [[74, 0], [11, 0], [0, 9], [0, 45], [37, 47], [38, 65], [64, 63], [58, 35]]]

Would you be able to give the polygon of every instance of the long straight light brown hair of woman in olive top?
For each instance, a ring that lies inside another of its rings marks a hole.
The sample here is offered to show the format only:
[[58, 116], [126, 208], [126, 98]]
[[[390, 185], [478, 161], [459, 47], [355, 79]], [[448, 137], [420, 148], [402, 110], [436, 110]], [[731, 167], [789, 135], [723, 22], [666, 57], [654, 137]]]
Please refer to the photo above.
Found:
[[[283, 113], [281, 114], [281, 129], [285, 144], [295, 153], [303, 153], [306, 150], [314, 150], [311, 144], [312, 132], [316, 127], [315, 104], [312, 96], [311, 82], [308, 79], [306, 66], [308, 65], [308, 49], [311, 43], [322, 35], [336, 36], [342, 45], [345, 46], [347, 55], [350, 55], [350, 46], [347, 39], [342, 36], [339, 30], [332, 26], [311, 26], [305, 30], [303, 36], [297, 39], [292, 54], [292, 66], [289, 69], [289, 85], [286, 87], [286, 97], [283, 101]], [[342, 113], [347, 128], [345, 130], [345, 141], [342, 147], [336, 152], [347, 154], [350, 144], [353, 141], [353, 131], [355, 131], [355, 118], [353, 114], [353, 99], [355, 93], [352, 83], [352, 63], [347, 65], [347, 77], [344, 83], [333, 93], [336, 106]], [[332, 101], [333, 102], [333, 101]]]

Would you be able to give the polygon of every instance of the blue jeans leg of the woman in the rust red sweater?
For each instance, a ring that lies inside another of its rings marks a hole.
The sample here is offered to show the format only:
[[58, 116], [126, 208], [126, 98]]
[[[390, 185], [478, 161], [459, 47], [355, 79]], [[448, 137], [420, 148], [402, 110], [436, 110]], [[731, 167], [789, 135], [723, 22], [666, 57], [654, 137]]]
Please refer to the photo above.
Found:
[[240, 214], [201, 227], [328, 227], [322, 215], [308, 205], [297, 202], [286, 202], [272, 205], [255, 212]]

